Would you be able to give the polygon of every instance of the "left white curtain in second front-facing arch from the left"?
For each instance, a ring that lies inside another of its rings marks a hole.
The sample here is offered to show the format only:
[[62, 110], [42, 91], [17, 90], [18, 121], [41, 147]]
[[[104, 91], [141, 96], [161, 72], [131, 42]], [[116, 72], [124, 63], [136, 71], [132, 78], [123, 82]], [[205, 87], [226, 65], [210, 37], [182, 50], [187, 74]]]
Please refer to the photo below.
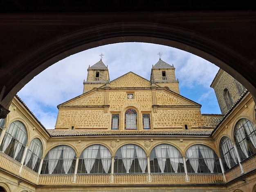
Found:
[[91, 145], [83, 150], [83, 159], [85, 164], [85, 170], [90, 173], [92, 166], [95, 163], [95, 158], [99, 150], [99, 145]]

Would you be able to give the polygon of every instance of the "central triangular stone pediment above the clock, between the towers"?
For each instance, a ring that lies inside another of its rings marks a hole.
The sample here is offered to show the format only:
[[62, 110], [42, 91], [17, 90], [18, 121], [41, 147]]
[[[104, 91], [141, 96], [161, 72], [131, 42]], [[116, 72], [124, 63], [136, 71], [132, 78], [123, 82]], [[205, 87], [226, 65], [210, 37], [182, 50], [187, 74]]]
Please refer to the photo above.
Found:
[[127, 88], [127, 87], [150, 87], [151, 82], [145, 78], [129, 72], [115, 80], [110, 82], [110, 87], [112, 88]]

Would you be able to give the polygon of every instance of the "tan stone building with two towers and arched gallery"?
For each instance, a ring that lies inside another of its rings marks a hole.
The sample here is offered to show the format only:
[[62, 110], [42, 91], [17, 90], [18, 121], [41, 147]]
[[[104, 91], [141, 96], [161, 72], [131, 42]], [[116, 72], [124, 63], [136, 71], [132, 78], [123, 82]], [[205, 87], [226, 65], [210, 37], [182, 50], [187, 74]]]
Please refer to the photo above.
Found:
[[83, 85], [57, 106], [55, 129], [13, 98], [0, 120], [0, 192], [256, 191], [255, 103], [229, 74], [211, 84], [222, 114], [181, 96], [161, 59], [150, 80], [111, 82], [100, 60]]

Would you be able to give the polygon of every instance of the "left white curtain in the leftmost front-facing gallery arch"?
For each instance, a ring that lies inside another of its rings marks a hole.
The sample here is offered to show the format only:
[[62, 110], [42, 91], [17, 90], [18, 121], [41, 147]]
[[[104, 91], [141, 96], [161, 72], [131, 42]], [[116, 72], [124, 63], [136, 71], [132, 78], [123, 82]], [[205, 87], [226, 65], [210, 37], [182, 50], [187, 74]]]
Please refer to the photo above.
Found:
[[48, 153], [48, 172], [49, 174], [52, 174], [54, 171], [58, 160], [60, 159], [61, 152], [62, 152], [63, 145], [54, 147], [52, 150]]

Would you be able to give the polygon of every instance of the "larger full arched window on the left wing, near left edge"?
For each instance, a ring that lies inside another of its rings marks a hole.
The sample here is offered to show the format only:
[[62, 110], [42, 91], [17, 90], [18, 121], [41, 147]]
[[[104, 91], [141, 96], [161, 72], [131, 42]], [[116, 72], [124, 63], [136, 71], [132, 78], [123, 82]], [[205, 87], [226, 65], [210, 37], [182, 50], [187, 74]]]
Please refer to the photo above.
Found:
[[13, 121], [4, 134], [1, 151], [17, 161], [21, 161], [27, 144], [27, 131], [23, 123]]

